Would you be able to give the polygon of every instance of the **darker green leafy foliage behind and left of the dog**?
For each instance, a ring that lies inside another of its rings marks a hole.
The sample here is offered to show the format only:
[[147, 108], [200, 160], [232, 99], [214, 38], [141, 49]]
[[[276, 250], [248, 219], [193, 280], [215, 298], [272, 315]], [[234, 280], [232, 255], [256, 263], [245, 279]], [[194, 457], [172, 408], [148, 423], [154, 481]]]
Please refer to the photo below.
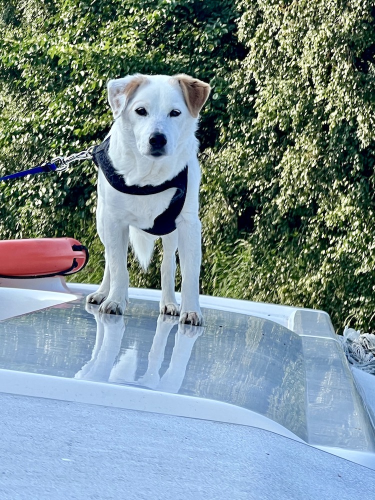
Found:
[[[236, 15], [227, 0], [1, 1], [1, 173], [98, 143], [111, 124], [106, 81], [134, 72], [210, 80], [215, 98], [199, 138], [202, 149], [214, 144], [224, 127], [220, 89], [236, 51]], [[87, 239], [91, 258], [78, 279], [99, 281], [95, 178], [86, 162], [69, 173], [3, 184], [1, 237]], [[154, 266], [146, 275], [132, 266], [133, 284], [159, 284]]]

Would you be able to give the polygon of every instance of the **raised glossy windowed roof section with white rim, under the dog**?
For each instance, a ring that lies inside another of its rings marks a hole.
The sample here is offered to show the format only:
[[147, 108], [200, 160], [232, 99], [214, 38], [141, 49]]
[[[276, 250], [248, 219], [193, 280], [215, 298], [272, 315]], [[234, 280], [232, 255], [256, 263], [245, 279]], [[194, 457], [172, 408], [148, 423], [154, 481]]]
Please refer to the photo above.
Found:
[[69, 288], [78, 300], [0, 323], [0, 391], [257, 426], [375, 468], [325, 313], [201, 297], [191, 327], [158, 317], [154, 290], [131, 289], [122, 317], [85, 310], [92, 286]]

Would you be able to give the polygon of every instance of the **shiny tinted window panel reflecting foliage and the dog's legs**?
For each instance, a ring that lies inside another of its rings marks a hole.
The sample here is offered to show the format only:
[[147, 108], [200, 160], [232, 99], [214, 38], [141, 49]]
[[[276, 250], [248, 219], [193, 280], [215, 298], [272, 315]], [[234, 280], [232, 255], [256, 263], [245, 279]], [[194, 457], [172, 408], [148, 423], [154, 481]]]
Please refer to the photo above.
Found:
[[159, 323], [157, 302], [137, 299], [124, 318], [92, 314], [80, 299], [1, 321], [0, 368], [224, 401], [307, 439], [302, 343], [292, 331], [213, 309], [204, 327], [177, 329], [174, 318]]

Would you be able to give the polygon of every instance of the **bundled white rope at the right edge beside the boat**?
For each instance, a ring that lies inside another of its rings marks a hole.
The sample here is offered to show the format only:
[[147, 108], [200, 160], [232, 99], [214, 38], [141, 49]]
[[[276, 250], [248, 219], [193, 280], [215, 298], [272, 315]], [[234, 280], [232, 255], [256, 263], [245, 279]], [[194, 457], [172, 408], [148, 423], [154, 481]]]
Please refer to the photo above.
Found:
[[375, 375], [375, 335], [345, 326], [338, 336], [350, 364]]

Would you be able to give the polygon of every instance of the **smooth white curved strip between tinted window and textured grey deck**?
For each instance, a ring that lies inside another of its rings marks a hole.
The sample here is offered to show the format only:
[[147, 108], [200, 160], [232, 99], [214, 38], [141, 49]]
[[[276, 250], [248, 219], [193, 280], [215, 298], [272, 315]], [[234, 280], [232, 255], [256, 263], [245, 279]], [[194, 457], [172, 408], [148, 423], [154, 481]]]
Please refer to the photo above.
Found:
[[0, 392], [250, 425], [303, 442], [282, 425], [254, 411], [183, 394], [4, 369], [0, 369]]

